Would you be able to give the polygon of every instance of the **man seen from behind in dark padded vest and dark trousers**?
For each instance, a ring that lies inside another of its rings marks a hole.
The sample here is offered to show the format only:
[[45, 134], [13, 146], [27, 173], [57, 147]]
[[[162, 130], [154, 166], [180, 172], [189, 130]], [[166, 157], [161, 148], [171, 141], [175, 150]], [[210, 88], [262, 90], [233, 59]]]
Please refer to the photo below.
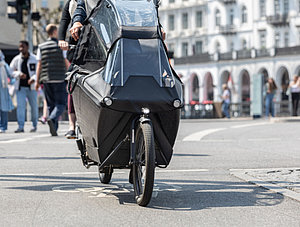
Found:
[[49, 39], [40, 44], [37, 51], [37, 83], [44, 86], [49, 117], [47, 123], [52, 136], [57, 136], [58, 118], [66, 108], [65, 72], [69, 67], [66, 52], [58, 46], [58, 29], [55, 24], [48, 24], [46, 32]]

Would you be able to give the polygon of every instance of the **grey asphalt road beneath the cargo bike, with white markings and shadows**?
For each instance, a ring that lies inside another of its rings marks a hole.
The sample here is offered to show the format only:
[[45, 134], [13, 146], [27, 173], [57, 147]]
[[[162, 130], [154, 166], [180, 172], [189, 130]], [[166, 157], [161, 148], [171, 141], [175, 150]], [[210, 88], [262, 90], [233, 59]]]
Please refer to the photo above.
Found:
[[[300, 123], [184, 120], [148, 207], [136, 205], [128, 170], [112, 183], [85, 169], [74, 140], [0, 134], [0, 226], [300, 226], [300, 202], [240, 180], [231, 169], [300, 167]], [[299, 179], [300, 182], [300, 179]]]

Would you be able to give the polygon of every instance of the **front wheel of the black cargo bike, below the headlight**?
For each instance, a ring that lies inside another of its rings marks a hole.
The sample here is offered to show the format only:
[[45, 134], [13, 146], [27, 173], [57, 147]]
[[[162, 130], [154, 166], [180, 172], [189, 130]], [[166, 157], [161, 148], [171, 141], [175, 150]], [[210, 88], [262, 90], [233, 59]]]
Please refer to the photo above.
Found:
[[150, 122], [140, 123], [135, 136], [133, 187], [138, 205], [147, 206], [152, 197], [155, 173], [155, 146]]

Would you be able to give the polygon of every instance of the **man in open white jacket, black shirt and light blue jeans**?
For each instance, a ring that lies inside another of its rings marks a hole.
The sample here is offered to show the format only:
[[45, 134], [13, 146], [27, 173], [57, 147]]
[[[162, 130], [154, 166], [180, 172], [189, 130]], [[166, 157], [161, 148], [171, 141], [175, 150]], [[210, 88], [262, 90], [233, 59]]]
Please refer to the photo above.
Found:
[[17, 94], [17, 120], [18, 128], [15, 133], [24, 132], [26, 99], [31, 108], [32, 129], [36, 132], [38, 122], [37, 92], [34, 89], [36, 81], [36, 56], [29, 52], [29, 43], [25, 40], [19, 42], [20, 54], [10, 63], [13, 77], [16, 78], [15, 89]]

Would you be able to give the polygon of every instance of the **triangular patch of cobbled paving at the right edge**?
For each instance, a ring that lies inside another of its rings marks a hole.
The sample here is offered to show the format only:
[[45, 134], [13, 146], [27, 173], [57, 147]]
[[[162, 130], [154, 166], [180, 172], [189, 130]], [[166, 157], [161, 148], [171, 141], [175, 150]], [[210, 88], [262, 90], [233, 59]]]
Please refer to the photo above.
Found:
[[242, 180], [300, 201], [300, 167], [268, 169], [231, 169]]

